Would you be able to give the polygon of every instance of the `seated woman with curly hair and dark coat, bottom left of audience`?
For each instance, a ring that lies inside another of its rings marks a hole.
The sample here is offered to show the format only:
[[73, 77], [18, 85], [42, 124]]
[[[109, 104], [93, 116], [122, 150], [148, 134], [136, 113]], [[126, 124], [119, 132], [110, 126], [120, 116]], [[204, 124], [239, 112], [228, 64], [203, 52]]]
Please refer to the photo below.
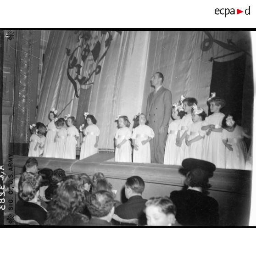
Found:
[[44, 224], [47, 211], [40, 206], [38, 196], [42, 177], [39, 174], [24, 172], [19, 181], [19, 200], [16, 204], [16, 214], [22, 220], [34, 220], [39, 225]]

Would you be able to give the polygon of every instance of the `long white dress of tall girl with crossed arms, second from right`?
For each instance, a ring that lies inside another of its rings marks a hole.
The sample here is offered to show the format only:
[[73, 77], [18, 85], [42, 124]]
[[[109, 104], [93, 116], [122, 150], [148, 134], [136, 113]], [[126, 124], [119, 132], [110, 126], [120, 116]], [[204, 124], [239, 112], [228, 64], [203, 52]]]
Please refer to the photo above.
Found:
[[[215, 128], [222, 127], [223, 113], [213, 113], [203, 121], [202, 126], [214, 124]], [[217, 168], [225, 168], [225, 145], [221, 138], [222, 133], [211, 132], [205, 135], [203, 142], [202, 159], [212, 162]]]

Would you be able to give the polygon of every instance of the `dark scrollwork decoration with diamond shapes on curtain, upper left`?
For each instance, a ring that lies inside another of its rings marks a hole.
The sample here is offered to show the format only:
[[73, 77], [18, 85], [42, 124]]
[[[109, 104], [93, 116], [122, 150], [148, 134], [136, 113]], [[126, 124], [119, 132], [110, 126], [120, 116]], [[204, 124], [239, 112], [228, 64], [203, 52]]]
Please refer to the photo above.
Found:
[[[77, 43], [79, 45], [74, 49], [67, 50], [68, 59], [68, 67], [67, 67], [67, 77], [72, 83], [75, 89], [75, 96], [78, 98], [78, 85], [77, 81], [80, 86], [93, 84], [94, 82], [91, 81], [93, 74], [98, 75], [101, 71], [100, 62], [106, 56], [108, 49], [110, 48], [111, 41], [113, 39], [113, 33], [122, 34], [122, 31], [90, 31], [90, 30], [83, 30], [83, 31], [75, 31], [74, 33], [77, 34]], [[105, 44], [101, 44], [103, 36], [105, 36]], [[76, 56], [78, 49], [83, 49], [81, 51], [80, 56]], [[102, 50], [105, 48], [104, 50]], [[102, 55], [100, 56], [100, 52]], [[76, 70], [75, 77], [71, 76], [72, 69]], [[81, 73], [83, 72], [84, 75]]]

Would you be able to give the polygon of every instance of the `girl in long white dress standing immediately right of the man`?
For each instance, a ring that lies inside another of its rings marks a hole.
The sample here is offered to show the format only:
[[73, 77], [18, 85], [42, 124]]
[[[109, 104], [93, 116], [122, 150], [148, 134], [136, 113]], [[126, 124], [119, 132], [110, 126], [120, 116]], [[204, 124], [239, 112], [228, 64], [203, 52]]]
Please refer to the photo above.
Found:
[[176, 145], [176, 137], [181, 118], [184, 117], [184, 115], [183, 106], [179, 103], [174, 103], [172, 106], [173, 121], [169, 123], [168, 137], [165, 145], [164, 164], [181, 165], [180, 161], [177, 163], [178, 146]]

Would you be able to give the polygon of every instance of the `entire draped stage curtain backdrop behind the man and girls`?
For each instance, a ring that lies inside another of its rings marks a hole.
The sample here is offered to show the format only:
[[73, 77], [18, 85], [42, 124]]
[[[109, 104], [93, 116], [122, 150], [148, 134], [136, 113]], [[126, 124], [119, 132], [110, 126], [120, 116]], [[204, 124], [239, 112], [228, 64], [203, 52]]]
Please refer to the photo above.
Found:
[[[147, 97], [152, 91], [150, 78], [154, 72], [163, 73], [163, 85], [172, 91], [173, 103], [181, 95], [195, 97], [207, 112], [206, 100], [210, 95], [213, 65], [210, 59], [234, 53], [218, 41], [227, 44], [227, 39], [231, 39], [241, 47], [246, 42], [245, 33], [237, 31], [87, 33], [50, 32], [37, 121], [47, 124], [50, 108], [55, 107], [59, 113], [62, 111], [59, 117], [71, 114], [80, 125], [85, 122], [83, 112], [88, 111], [98, 121], [99, 147], [102, 149], [114, 149], [117, 115], [127, 115], [132, 121], [135, 114], [145, 112]], [[248, 33], [246, 35], [248, 39]], [[212, 44], [209, 37], [215, 40]], [[97, 40], [99, 43], [95, 44]], [[215, 61], [232, 61], [242, 54], [231, 54]], [[79, 78], [76, 79], [79, 98], [67, 77], [69, 66], [74, 67], [69, 69], [70, 76]], [[248, 94], [244, 93], [245, 96]]]

